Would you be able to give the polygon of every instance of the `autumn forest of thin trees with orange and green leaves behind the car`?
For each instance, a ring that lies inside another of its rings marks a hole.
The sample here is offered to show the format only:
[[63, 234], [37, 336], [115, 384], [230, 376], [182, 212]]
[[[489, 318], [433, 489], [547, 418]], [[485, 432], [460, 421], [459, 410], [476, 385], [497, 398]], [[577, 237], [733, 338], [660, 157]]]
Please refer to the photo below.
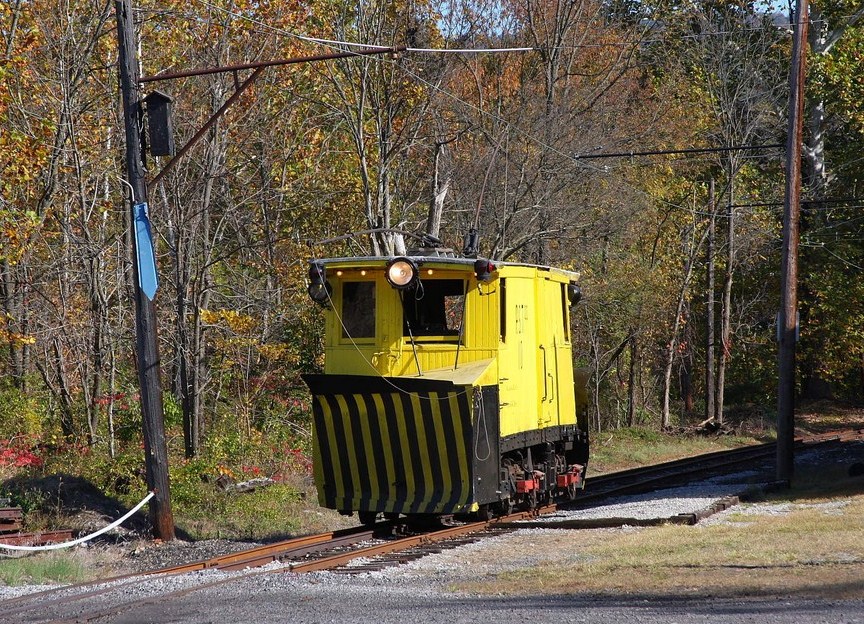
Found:
[[[359, 49], [335, 42], [412, 49], [267, 69], [152, 189], [181, 499], [201, 474], [308, 470], [299, 375], [321, 365], [322, 323], [307, 259], [394, 244], [314, 242], [422, 234], [436, 204], [447, 246], [479, 215], [481, 255], [581, 272], [574, 345], [595, 431], [773, 419], [789, 5], [135, 5], [143, 76]], [[851, 0], [811, 5], [803, 399], [864, 390], [862, 15]], [[138, 494], [114, 3], [2, 0], [0, 36], [0, 467]], [[177, 144], [247, 75], [159, 83]], [[149, 158], [150, 176], [164, 164]]]

